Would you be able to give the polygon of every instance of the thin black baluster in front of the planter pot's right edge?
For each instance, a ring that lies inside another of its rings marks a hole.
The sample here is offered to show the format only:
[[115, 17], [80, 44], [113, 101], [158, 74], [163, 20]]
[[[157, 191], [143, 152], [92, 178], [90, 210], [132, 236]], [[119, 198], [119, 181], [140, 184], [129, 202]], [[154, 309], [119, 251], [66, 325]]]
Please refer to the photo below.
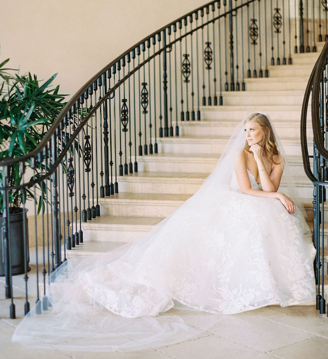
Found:
[[[21, 176], [21, 179], [22, 179], [22, 183], [24, 183], [25, 182], [25, 179], [24, 179], [25, 164], [23, 162], [20, 162], [19, 167], [20, 167], [20, 176]], [[25, 208], [26, 187], [21, 188], [20, 191], [21, 191], [22, 206], [23, 206], [24, 282], [25, 282], [24, 315], [26, 315], [30, 311], [30, 302], [28, 301], [28, 286], [27, 286], [27, 283], [28, 283], [27, 272], [29, 271], [29, 267], [28, 267], [28, 259], [29, 259], [28, 257], [29, 257], [29, 255], [28, 255], [28, 243], [27, 243], [27, 240], [28, 240], [28, 225], [27, 225], [26, 208]], [[48, 194], [48, 189], [47, 189], [47, 194]], [[47, 200], [47, 203], [48, 203], [48, 195], [46, 197], [46, 200]], [[48, 208], [48, 206], [47, 206], [47, 208]], [[47, 211], [47, 215], [48, 215], [48, 211]], [[3, 222], [2, 222], [2, 225], [3, 225]], [[48, 241], [48, 243], [49, 243], [49, 241]], [[49, 249], [48, 249], [48, 253], [49, 253]], [[48, 271], [50, 271], [50, 268], [49, 268]]]

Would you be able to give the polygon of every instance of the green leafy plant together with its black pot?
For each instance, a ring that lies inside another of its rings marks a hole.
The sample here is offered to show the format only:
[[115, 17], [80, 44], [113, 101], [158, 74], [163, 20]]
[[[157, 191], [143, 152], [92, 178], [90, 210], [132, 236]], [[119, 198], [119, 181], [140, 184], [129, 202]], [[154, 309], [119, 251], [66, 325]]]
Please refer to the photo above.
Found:
[[[59, 94], [59, 86], [51, 87], [57, 74], [47, 81], [39, 81], [36, 75], [20, 75], [15, 69], [5, 68], [9, 61], [0, 63], [0, 160], [16, 158], [28, 154], [42, 140], [60, 111], [65, 106], [66, 95]], [[29, 163], [30, 164], [30, 163]], [[21, 182], [19, 165], [8, 168], [8, 185]], [[0, 187], [2, 173], [0, 173]], [[41, 191], [45, 188], [40, 187]], [[27, 216], [22, 203], [32, 199], [37, 201], [33, 190], [26, 188], [8, 193], [10, 222], [12, 274], [24, 272], [23, 218], [25, 216], [25, 238], [27, 239]], [[38, 213], [42, 208], [41, 196], [38, 201]], [[2, 226], [3, 193], [0, 191], [0, 228]], [[2, 252], [2, 231], [0, 231], [0, 252]], [[28, 256], [28, 253], [26, 253]], [[4, 275], [2, 256], [0, 258], [0, 276]]]

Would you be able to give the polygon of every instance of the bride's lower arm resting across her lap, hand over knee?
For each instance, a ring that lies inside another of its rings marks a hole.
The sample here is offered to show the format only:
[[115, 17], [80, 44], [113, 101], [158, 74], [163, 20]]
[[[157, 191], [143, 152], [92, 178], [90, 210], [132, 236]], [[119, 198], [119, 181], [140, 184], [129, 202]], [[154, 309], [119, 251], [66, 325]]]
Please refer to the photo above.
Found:
[[[276, 166], [281, 167], [281, 166]], [[273, 171], [273, 170], [272, 170]], [[277, 172], [277, 176], [278, 176]], [[246, 154], [245, 151], [242, 151], [242, 154], [240, 156], [237, 168], [236, 168], [236, 176], [239, 184], [239, 188], [241, 189], [242, 193], [244, 194], [250, 194], [252, 196], [256, 197], [264, 197], [264, 198], [275, 198], [279, 199], [280, 202], [285, 206], [288, 213], [295, 213], [296, 207], [295, 204], [291, 199], [289, 199], [285, 194], [281, 192], [275, 191], [262, 191], [258, 189], [251, 188], [249, 177], [247, 174], [247, 168], [246, 168]], [[280, 175], [281, 178], [281, 175]], [[280, 182], [279, 178], [279, 182]]]

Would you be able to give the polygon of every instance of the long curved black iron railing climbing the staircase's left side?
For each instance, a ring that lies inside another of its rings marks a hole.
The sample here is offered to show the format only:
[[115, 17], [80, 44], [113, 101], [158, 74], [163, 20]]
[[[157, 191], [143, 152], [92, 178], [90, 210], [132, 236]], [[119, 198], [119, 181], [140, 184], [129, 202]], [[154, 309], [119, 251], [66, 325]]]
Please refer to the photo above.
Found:
[[[83, 242], [82, 222], [101, 215], [99, 197], [117, 193], [120, 177], [138, 172], [138, 156], [161, 152], [161, 137], [178, 136], [181, 121], [201, 120], [203, 106], [223, 105], [225, 91], [246, 90], [247, 77], [267, 77], [270, 65], [291, 64], [292, 52], [316, 51], [316, 40], [327, 38], [327, 26], [324, 35], [322, 25], [327, 24], [322, 16], [327, 20], [327, 8], [323, 12], [322, 5], [316, 6], [311, 0], [208, 2], [95, 74], [33, 152], [2, 159], [1, 257], [11, 318], [12, 191], [24, 198], [30, 189], [40, 203], [39, 215], [36, 203], [23, 200], [22, 210], [28, 207], [32, 212], [36, 303], [41, 313], [49, 305], [49, 274], [67, 260], [68, 250]], [[21, 176], [16, 187], [8, 185], [13, 166]], [[31, 285], [27, 227], [23, 216], [25, 314]]]

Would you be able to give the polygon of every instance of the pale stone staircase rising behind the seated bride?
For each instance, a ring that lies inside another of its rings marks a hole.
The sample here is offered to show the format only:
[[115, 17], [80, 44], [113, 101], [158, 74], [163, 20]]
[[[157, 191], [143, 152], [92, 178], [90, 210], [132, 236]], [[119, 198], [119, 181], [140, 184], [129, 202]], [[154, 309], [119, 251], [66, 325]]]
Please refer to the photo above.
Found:
[[[84, 243], [68, 256], [103, 252], [145, 235], [197, 191], [236, 124], [257, 111], [274, 122], [312, 227], [313, 185], [303, 170], [299, 128], [304, 91], [323, 46], [293, 55], [292, 65], [270, 66], [268, 78], [246, 79], [246, 91], [222, 93], [223, 106], [201, 108], [201, 121], [178, 123], [179, 137], [158, 139], [159, 153], [137, 158], [139, 172], [120, 178], [120, 193], [99, 199], [102, 215], [82, 224]], [[326, 258], [326, 275], [327, 264]]]

